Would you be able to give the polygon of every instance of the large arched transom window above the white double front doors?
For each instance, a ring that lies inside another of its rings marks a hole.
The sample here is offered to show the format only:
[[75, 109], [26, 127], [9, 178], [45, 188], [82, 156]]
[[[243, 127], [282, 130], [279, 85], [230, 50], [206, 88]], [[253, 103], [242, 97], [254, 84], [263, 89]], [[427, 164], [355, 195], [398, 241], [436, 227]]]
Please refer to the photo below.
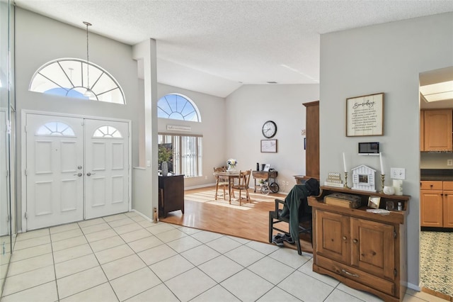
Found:
[[120, 85], [105, 69], [80, 59], [58, 59], [42, 65], [33, 75], [29, 90], [126, 104]]

